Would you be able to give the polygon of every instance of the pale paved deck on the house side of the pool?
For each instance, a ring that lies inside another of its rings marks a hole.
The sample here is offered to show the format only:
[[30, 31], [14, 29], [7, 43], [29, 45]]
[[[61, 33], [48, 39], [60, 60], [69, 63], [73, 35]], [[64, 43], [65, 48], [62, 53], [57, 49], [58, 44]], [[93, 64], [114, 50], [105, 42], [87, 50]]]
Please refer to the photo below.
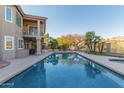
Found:
[[9, 66], [0, 69], [0, 84], [9, 80], [13, 76], [24, 71], [28, 67], [44, 59], [50, 54], [52, 54], [52, 52], [43, 53], [40, 56], [29, 56], [25, 58], [10, 60], [11, 64]]

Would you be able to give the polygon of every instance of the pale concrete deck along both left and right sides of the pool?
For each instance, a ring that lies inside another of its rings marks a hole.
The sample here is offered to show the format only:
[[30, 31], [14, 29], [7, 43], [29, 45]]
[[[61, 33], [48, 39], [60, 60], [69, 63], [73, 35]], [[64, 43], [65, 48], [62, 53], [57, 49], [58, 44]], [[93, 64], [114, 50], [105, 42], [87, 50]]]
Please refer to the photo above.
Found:
[[[0, 84], [4, 83], [5, 81], [9, 80], [10, 78], [14, 77], [15, 75], [19, 74], [20, 72], [24, 71], [25, 69], [29, 68], [33, 64], [44, 59], [45, 57], [49, 56], [52, 53], [54, 52], [42, 53], [40, 56], [28, 56], [25, 58], [10, 60], [11, 64], [9, 66], [0, 69]], [[91, 59], [96, 63], [103, 65], [117, 73], [120, 73], [121, 75], [124, 75], [124, 64], [109, 61], [110, 58], [117, 59], [118, 57], [91, 55], [77, 51], [76, 53], [88, 59]], [[118, 59], [124, 59], [124, 58], [118, 58]]]

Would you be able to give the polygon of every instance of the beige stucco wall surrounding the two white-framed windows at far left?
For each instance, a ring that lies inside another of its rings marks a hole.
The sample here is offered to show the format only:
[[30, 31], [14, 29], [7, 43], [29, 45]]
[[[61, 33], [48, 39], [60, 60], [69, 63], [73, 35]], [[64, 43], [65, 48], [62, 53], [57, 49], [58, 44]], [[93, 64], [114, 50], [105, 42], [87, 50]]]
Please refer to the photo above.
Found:
[[[16, 25], [16, 9], [15, 6], [10, 6], [13, 9], [13, 23], [5, 21], [5, 6], [0, 6], [1, 19], [2, 19], [2, 31], [1, 31], [1, 40], [2, 40], [2, 59], [14, 59], [16, 51], [18, 49], [18, 37], [22, 37], [22, 28]], [[4, 36], [13, 36], [14, 37], [14, 50], [5, 50], [4, 49]]]

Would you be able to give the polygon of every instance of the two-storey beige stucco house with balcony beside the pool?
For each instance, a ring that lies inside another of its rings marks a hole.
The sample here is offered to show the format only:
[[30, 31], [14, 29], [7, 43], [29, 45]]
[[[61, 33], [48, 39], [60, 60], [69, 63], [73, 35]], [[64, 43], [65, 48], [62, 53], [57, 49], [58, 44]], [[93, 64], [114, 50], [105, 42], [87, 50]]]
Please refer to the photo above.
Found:
[[25, 14], [18, 5], [0, 5], [0, 59], [41, 54], [46, 17]]

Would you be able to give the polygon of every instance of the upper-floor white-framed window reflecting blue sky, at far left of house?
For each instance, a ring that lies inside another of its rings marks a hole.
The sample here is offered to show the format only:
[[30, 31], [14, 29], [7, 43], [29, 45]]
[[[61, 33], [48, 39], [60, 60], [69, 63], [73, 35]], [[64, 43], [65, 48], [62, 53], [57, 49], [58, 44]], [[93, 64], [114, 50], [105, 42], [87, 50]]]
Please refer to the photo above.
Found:
[[13, 10], [12, 10], [12, 8], [6, 6], [6, 7], [5, 7], [5, 20], [6, 20], [7, 22], [11, 22], [11, 23], [12, 23], [12, 21], [13, 21], [12, 16], [13, 16]]

